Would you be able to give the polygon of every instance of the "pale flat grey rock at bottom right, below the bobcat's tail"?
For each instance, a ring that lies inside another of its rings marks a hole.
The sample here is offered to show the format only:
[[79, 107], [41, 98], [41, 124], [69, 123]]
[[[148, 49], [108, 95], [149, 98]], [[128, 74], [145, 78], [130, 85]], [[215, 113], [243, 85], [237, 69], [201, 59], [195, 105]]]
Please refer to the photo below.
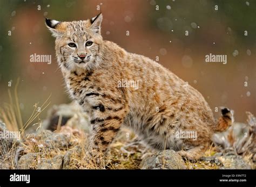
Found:
[[223, 163], [220, 169], [251, 169], [250, 164], [246, 163], [240, 155], [224, 155], [217, 158]]

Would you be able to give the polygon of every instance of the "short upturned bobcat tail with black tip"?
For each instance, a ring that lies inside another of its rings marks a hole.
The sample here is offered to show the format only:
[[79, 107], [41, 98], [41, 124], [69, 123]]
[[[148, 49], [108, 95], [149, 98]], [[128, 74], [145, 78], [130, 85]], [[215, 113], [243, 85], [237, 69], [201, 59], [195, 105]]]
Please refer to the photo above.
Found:
[[226, 107], [220, 107], [221, 109], [221, 117], [217, 121], [217, 125], [215, 126], [215, 132], [223, 132], [226, 131], [228, 127], [230, 127], [234, 122], [234, 111], [230, 110]]

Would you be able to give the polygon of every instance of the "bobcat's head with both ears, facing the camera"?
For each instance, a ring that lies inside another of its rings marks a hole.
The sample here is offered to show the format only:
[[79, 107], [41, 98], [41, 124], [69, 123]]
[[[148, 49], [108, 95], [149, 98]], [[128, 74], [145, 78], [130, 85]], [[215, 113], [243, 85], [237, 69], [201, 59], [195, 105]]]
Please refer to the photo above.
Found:
[[97, 66], [103, 42], [100, 35], [102, 13], [84, 21], [60, 22], [45, 18], [45, 23], [56, 38], [56, 56], [61, 67], [68, 70], [90, 70]]

